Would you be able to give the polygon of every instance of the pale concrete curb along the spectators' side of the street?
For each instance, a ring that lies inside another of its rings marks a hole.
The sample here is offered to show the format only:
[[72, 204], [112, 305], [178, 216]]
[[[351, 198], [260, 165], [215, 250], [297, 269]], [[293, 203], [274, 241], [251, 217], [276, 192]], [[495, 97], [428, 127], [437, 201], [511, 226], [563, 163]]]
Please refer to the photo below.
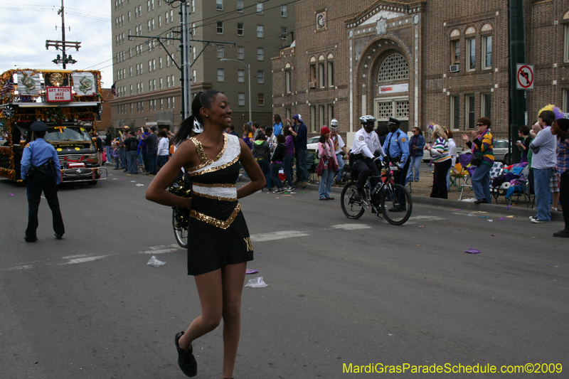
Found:
[[[241, 176], [239, 178], [241, 182], [249, 181], [249, 178], [243, 178]], [[332, 187], [330, 192], [337, 193], [338, 197], [340, 197], [343, 187]], [[297, 191], [318, 191], [317, 184], [308, 183], [306, 188], [297, 188]], [[425, 198], [422, 196], [413, 196], [413, 203], [420, 204], [420, 205], [427, 205], [436, 208], [452, 208], [452, 209], [461, 209], [461, 210], [469, 210], [471, 212], [474, 211], [483, 211], [488, 213], [500, 213], [500, 214], [507, 214], [507, 215], [517, 215], [520, 217], [529, 217], [536, 215], [535, 208], [522, 208], [519, 206], [508, 206], [506, 204], [474, 204], [469, 201], [457, 201], [457, 200], [448, 200], [445, 198]], [[560, 221], [563, 222], [563, 213], [561, 212], [552, 212], [551, 213], [551, 221]]]

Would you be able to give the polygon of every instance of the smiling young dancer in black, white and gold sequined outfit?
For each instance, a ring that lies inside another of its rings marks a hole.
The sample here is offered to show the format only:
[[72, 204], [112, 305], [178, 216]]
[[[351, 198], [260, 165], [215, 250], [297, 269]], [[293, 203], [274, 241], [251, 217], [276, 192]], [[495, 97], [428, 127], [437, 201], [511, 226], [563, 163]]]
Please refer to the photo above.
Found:
[[[188, 274], [198, 287], [201, 316], [186, 331], [176, 334], [178, 365], [189, 377], [197, 374], [192, 342], [216, 329], [223, 319], [223, 378], [232, 378], [241, 326], [241, 292], [247, 262], [253, 259], [249, 231], [238, 198], [259, 191], [265, 176], [249, 147], [238, 137], [223, 133], [231, 124], [227, 97], [216, 90], [198, 93], [191, 122], [202, 124], [203, 133], [182, 142], [154, 178], [147, 199], [168, 206], [190, 208]], [[187, 134], [187, 130], [179, 133]], [[235, 189], [243, 164], [251, 181]], [[176, 174], [184, 167], [191, 178], [192, 196], [169, 193]]]

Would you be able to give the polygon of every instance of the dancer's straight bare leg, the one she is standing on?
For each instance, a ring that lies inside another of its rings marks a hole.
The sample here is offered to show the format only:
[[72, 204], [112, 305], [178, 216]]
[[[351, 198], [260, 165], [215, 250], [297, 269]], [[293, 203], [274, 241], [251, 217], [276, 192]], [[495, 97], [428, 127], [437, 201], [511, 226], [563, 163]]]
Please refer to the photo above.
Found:
[[247, 263], [223, 267], [223, 378], [233, 378], [241, 334], [241, 294]]

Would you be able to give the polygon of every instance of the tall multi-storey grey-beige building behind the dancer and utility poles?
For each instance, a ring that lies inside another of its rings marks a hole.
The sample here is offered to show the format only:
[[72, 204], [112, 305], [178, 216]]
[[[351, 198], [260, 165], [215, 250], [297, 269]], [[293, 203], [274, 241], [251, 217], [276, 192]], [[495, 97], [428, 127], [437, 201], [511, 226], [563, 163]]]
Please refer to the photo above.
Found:
[[[271, 58], [294, 28], [294, 3], [252, 0], [187, 0], [191, 15], [191, 92], [224, 92], [239, 130], [252, 120], [270, 124]], [[157, 125], [174, 130], [181, 118], [179, 1], [115, 0], [112, 8], [112, 126]], [[129, 35], [137, 38], [128, 38]], [[162, 43], [156, 40], [161, 37]], [[205, 42], [201, 42], [205, 41]], [[226, 61], [221, 58], [228, 59]]]

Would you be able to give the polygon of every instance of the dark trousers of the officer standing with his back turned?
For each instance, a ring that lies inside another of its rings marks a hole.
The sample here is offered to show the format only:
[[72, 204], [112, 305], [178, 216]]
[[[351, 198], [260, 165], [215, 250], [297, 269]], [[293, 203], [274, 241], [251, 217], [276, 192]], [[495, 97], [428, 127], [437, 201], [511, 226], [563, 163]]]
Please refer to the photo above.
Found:
[[38, 209], [40, 206], [41, 193], [46, 196], [51, 214], [53, 215], [53, 231], [57, 235], [65, 233], [63, 218], [59, 210], [58, 186], [55, 174], [47, 170], [46, 174], [36, 173], [28, 179], [28, 228], [26, 238], [36, 238], [38, 228]]

